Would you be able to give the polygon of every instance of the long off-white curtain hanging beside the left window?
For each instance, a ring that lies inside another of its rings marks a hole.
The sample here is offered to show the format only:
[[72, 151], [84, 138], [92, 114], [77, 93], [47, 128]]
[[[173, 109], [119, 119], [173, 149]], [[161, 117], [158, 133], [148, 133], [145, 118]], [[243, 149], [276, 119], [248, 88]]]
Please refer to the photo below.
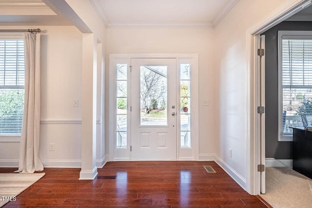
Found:
[[24, 33], [25, 101], [20, 137], [20, 164], [16, 172], [42, 171], [39, 159], [40, 34]]

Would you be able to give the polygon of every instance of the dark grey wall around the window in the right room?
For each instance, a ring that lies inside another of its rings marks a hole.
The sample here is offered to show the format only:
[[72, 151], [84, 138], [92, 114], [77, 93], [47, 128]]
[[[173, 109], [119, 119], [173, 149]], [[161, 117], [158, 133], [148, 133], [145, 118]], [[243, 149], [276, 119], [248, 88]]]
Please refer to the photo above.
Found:
[[278, 58], [277, 31], [312, 30], [310, 21], [283, 21], [265, 35], [265, 157], [292, 159], [292, 142], [278, 142]]

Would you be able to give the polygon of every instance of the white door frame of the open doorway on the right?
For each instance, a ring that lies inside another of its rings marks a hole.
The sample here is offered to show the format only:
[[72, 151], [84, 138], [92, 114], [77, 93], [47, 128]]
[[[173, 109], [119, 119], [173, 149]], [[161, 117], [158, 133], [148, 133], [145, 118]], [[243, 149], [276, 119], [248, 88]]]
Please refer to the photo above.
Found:
[[[260, 44], [259, 36], [281, 21], [291, 17], [303, 8], [311, 5], [311, 0], [288, 0], [272, 13], [246, 30], [247, 58], [247, 177], [246, 191], [250, 194], [260, 194], [260, 116], [257, 106], [260, 105], [260, 63], [257, 49]], [[264, 95], [263, 95], [264, 96]]]

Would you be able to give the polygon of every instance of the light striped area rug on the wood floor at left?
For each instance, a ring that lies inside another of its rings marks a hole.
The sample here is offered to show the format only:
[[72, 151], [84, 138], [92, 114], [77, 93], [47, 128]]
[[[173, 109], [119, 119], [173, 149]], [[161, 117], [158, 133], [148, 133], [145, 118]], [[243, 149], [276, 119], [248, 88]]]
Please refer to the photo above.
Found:
[[0, 173], [0, 207], [44, 176], [42, 173]]

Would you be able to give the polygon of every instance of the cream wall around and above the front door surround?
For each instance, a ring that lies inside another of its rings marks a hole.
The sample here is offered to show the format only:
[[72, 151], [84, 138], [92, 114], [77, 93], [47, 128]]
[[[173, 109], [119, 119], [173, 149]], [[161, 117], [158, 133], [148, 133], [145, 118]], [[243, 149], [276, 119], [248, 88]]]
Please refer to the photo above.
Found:
[[[106, 60], [109, 54], [196, 53], [199, 68], [199, 154], [202, 159], [217, 153], [215, 137], [215, 75], [213, 70], [213, 29], [207, 28], [108, 28]], [[106, 69], [108, 69], [106, 63]], [[109, 72], [105, 71], [105, 102], [109, 97]], [[209, 106], [202, 106], [209, 99]], [[108, 112], [107, 112], [108, 115]], [[109, 124], [106, 116], [106, 124]], [[108, 125], [106, 125], [108, 129]], [[108, 133], [106, 134], [108, 138]], [[106, 143], [108, 152], [108, 143]]]

